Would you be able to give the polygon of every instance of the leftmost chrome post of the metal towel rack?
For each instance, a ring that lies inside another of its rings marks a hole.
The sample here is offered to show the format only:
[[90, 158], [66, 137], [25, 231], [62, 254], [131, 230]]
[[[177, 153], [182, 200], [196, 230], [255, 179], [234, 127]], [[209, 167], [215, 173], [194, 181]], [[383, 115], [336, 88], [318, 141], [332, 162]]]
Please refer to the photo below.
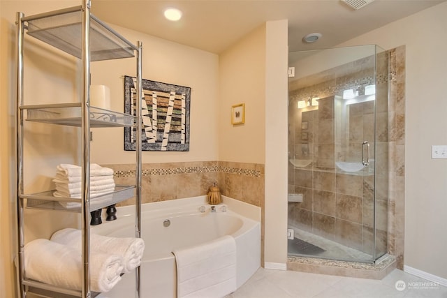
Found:
[[20, 108], [23, 105], [23, 35], [24, 26], [22, 22], [24, 13], [17, 13], [17, 89], [16, 89], [16, 116], [17, 125], [15, 128], [15, 144], [16, 144], [16, 166], [17, 166], [17, 278], [19, 295], [24, 298], [26, 294], [24, 281], [24, 218], [23, 208], [23, 111]]

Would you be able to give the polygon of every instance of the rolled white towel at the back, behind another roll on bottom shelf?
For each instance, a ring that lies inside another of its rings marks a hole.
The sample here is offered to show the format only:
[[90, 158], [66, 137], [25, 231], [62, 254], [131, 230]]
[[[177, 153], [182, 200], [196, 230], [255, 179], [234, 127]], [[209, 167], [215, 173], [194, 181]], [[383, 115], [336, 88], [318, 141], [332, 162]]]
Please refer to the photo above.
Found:
[[[81, 249], [81, 231], [66, 228], [54, 232], [51, 240], [65, 244], [76, 249]], [[140, 266], [142, 254], [145, 251], [145, 241], [134, 237], [109, 237], [90, 233], [91, 251], [102, 253], [114, 253], [123, 258], [124, 273], [128, 273]]]

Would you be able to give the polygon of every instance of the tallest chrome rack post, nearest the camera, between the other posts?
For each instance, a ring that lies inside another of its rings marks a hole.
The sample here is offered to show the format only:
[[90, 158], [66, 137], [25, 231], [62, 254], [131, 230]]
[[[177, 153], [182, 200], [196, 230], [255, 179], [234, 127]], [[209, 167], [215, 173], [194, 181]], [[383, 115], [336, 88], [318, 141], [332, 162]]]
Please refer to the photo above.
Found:
[[82, 3], [82, 297], [90, 292], [90, 0]]

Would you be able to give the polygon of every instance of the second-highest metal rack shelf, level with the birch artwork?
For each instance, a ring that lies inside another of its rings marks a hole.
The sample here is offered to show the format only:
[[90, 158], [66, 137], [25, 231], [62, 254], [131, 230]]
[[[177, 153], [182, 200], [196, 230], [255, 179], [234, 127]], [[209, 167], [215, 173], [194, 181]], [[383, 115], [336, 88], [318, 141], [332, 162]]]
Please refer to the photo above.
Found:
[[[24, 105], [27, 121], [65, 126], [82, 126], [81, 103], [59, 103], [50, 105]], [[90, 107], [90, 127], [125, 127], [133, 126], [135, 117], [99, 107]]]

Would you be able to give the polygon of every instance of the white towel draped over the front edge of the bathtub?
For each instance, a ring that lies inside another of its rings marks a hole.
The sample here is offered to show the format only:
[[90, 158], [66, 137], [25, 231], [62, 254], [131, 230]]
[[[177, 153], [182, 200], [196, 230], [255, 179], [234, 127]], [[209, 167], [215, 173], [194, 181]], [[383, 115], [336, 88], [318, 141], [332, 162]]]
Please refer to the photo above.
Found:
[[236, 290], [236, 244], [231, 236], [173, 251], [177, 297], [224, 297]]

